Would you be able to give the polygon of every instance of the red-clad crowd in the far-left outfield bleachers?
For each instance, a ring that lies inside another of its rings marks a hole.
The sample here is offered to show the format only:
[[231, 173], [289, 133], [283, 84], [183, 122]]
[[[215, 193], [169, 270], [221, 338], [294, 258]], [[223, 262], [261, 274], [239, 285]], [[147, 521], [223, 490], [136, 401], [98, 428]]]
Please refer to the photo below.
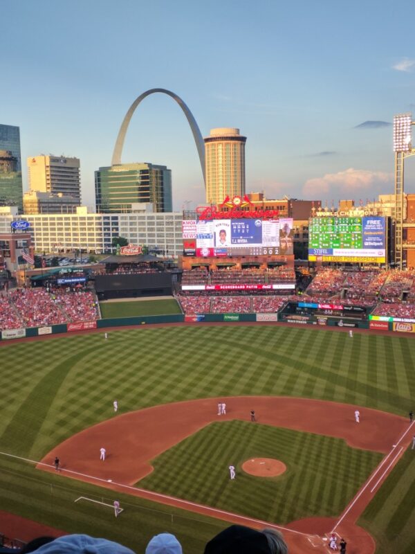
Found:
[[13, 289], [0, 299], [0, 330], [98, 319], [92, 292], [66, 289]]

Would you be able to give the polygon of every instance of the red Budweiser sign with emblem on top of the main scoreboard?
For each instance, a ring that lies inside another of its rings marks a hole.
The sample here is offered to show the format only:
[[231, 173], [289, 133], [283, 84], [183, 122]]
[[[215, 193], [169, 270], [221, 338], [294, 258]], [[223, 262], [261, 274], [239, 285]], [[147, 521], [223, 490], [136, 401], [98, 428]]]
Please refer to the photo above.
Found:
[[[222, 211], [224, 207], [229, 208], [228, 211]], [[249, 206], [249, 210], [241, 210]], [[278, 210], [264, 210], [262, 208], [255, 208], [254, 204], [250, 201], [248, 196], [241, 198], [235, 196], [230, 200], [227, 196], [222, 204], [217, 206], [198, 206], [196, 213], [199, 216], [199, 220], [237, 220], [237, 219], [253, 219], [253, 220], [272, 220], [274, 217], [278, 217]]]

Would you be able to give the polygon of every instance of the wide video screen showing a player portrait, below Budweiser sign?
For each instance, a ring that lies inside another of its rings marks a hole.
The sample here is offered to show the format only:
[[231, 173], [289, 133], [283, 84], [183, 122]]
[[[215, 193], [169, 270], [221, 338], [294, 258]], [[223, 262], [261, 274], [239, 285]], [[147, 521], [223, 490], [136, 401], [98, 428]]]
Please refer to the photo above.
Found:
[[[280, 256], [293, 254], [293, 219], [183, 221], [183, 240], [195, 240], [193, 255]], [[189, 244], [190, 246], [190, 244]], [[187, 256], [190, 255], [187, 248]]]

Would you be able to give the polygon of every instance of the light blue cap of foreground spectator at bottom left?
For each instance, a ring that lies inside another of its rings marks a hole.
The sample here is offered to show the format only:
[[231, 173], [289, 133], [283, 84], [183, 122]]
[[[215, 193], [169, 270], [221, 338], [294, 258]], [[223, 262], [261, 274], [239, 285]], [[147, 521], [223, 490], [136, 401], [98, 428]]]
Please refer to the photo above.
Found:
[[89, 535], [64, 535], [40, 546], [36, 554], [135, 554], [127, 546]]

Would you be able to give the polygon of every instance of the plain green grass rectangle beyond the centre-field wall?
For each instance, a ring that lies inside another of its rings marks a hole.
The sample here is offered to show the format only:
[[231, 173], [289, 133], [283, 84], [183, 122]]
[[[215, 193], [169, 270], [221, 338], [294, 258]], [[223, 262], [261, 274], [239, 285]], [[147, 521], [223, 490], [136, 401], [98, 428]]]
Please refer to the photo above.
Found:
[[138, 300], [131, 302], [101, 302], [102, 317], [140, 317], [165, 316], [167, 314], [181, 314], [181, 309], [174, 298], [160, 298], [160, 300]]

